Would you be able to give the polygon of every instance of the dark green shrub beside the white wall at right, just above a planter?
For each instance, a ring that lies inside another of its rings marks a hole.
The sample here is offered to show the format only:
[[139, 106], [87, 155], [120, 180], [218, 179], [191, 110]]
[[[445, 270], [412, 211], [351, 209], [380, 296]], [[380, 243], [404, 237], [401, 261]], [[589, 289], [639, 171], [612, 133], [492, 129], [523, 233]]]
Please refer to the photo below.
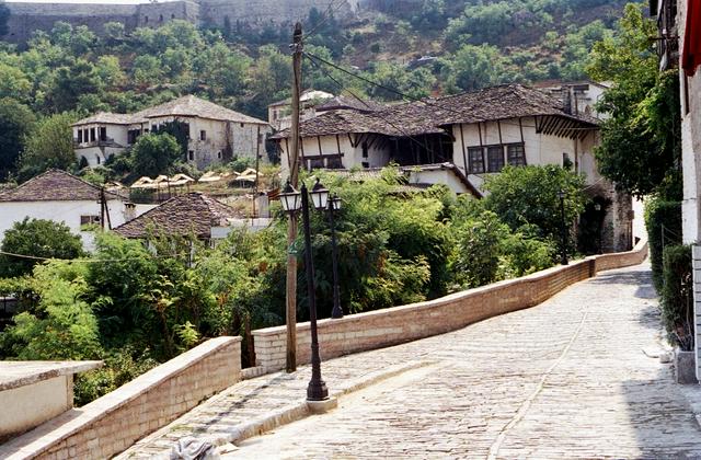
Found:
[[693, 349], [693, 280], [691, 248], [666, 246], [663, 251], [662, 318], [671, 344]]

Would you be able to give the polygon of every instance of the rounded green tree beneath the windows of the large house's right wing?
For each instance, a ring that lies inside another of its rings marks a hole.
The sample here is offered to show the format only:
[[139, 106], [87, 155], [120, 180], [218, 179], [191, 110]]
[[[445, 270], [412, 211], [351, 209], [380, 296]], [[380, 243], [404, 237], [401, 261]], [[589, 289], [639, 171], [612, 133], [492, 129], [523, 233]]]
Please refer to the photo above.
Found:
[[555, 165], [506, 166], [486, 180], [486, 209], [517, 231], [536, 226], [538, 237], [556, 240], [561, 231], [561, 209], [558, 193], [564, 191], [565, 219], [574, 220], [584, 210], [584, 176]]

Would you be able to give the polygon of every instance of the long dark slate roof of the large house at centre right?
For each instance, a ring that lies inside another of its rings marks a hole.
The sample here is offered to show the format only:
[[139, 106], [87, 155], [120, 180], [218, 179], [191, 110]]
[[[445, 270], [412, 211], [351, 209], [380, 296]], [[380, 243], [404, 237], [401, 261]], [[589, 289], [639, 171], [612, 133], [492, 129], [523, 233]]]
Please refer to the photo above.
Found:
[[[359, 113], [356, 111], [326, 112], [300, 123], [301, 137], [333, 136], [346, 133], [375, 133], [407, 137], [446, 133], [443, 127], [464, 123], [495, 122], [526, 116], [558, 116], [575, 124], [596, 127], [598, 120], [584, 114], [567, 114], [562, 101], [544, 92], [521, 84], [504, 84], [449, 95], [387, 106]], [[289, 129], [273, 139], [289, 137]]]

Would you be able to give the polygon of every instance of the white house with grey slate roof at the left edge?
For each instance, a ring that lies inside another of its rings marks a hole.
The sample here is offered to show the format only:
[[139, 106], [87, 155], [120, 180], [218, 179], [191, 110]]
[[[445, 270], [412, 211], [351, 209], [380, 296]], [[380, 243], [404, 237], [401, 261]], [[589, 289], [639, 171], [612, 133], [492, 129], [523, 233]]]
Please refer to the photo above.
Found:
[[[91, 249], [92, 233], [84, 232], [85, 225], [117, 227], [150, 209], [152, 206], [134, 205], [120, 195], [104, 192], [106, 203], [103, 212], [102, 188], [65, 171], [50, 170], [22, 185], [0, 193], [0, 240], [15, 222], [28, 217], [66, 223], [83, 238]], [[104, 214], [105, 222], [102, 222]]]

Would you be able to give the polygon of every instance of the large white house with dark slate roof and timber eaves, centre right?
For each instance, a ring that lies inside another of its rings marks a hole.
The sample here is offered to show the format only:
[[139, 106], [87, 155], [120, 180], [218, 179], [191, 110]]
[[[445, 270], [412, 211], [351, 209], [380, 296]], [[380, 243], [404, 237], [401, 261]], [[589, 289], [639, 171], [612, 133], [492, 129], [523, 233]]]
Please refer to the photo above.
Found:
[[[387, 106], [338, 110], [300, 124], [306, 169], [372, 169], [389, 163], [426, 168], [452, 164], [481, 189], [505, 165], [560, 164], [586, 177], [594, 202], [588, 222], [598, 228], [595, 252], [632, 248], [632, 199], [598, 173], [594, 147], [598, 119], [568, 99], [520, 84]], [[283, 175], [290, 169], [289, 131], [275, 136]], [[436, 177], [436, 183], [444, 183]]]

